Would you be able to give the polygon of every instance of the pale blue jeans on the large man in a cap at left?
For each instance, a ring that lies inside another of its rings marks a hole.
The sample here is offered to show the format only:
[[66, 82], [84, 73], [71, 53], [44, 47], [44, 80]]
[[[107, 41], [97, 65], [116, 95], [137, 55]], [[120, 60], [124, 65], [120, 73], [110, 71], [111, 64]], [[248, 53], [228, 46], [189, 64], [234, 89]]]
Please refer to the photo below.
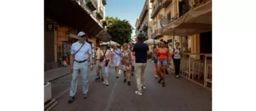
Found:
[[74, 69], [72, 73], [72, 81], [70, 86], [70, 97], [74, 97], [77, 89], [78, 84], [78, 76], [79, 72], [82, 77], [82, 84], [83, 84], [83, 94], [87, 94], [89, 89], [89, 67], [88, 61], [83, 63], [74, 62]]

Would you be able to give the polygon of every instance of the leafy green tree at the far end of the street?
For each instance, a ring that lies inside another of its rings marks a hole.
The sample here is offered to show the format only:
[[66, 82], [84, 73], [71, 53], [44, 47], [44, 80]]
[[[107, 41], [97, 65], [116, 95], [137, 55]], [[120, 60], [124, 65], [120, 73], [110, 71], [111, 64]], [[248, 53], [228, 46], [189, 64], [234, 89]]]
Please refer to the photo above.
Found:
[[133, 33], [133, 27], [127, 20], [120, 20], [119, 18], [106, 17], [108, 34], [112, 36], [112, 40], [120, 45], [128, 42]]

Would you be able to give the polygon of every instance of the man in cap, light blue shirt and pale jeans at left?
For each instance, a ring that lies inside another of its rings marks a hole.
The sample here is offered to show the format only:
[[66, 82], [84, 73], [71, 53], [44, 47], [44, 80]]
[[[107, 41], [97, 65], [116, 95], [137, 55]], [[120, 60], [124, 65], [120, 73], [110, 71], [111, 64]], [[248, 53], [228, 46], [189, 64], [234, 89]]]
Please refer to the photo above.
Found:
[[[85, 33], [78, 33], [79, 40], [72, 44], [71, 46], [71, 56], [70, 56], [70, 71], [72, 72], [72, 81], [70, 86], [70, 99], [69, 103], [75, 100], [75, 92], [78, 84], [79, 72], [82, 77], [83, 83], [83, 98], [87, 98], [87, 92], [89, 89], [89, 65], [88, 58], [93, 61], [91, 45], [85, 41]], [[90, 65], [91, 71], [93, 71], [93, 63]]]

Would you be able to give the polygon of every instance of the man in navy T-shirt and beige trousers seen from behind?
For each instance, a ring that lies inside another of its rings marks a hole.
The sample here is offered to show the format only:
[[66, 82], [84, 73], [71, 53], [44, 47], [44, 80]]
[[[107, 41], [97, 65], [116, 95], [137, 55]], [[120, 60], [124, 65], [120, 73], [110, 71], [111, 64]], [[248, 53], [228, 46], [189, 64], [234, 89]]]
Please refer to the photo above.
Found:
[[146, 69], [147, 55], [149, 55], [149, 48], [147, 44], [144, 44], [142, 40], [144, 39], [143, 35], [137, 37], [137, 42], [133, 47], [133, 55], [135, 55], [135, 73], [137, 81], [137, 95], [142, 95], [142, 88], [146, 88], [144, 71]]

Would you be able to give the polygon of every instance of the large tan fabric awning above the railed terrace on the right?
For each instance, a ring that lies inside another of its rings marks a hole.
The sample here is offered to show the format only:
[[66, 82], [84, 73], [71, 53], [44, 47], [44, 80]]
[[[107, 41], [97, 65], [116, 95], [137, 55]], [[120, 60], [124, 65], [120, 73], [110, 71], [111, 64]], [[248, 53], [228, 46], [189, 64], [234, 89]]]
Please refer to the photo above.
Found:
[[205, 3], [200, 7], [189, 10], [184, 16], [160, 29], [161, 35], [194, 35], [211, 31], [212, 3]]

